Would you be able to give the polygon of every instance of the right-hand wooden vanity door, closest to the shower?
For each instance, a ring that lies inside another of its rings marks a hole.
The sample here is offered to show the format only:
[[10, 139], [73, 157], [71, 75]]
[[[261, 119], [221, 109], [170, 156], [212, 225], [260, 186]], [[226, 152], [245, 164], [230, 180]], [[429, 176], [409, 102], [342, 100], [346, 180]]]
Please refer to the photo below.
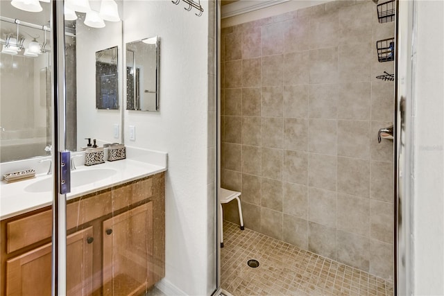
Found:
[[151, 286], [153, 202], [103, 221], [103, 295], [139, 295]]

